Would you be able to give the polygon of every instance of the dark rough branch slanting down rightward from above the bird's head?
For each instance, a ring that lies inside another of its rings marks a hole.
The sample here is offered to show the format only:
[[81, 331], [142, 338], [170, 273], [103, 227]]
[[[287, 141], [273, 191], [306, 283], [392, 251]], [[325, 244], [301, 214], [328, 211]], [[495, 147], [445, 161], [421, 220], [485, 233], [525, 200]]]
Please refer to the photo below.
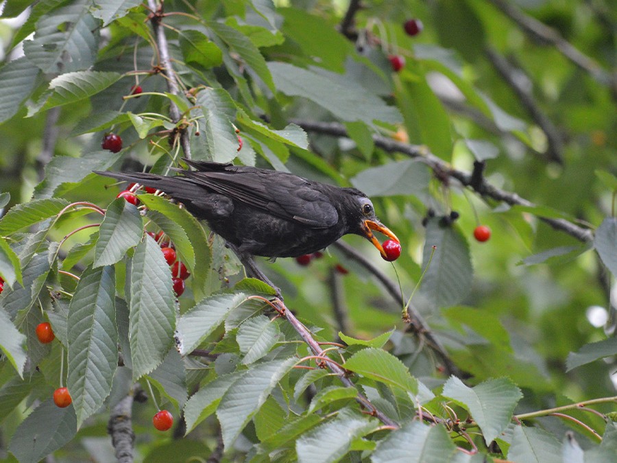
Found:
[[[294, 119], [293, 123], [302, 127], [304, 130], [309, 132], [317, 132], [322, 134], [328, 134], [332, 136], [348, 136], [347, 130], [343, 124], [338, 122], [321, 122], [321, 121], [303, 121]], [[428, 167], [431, 167], [433, 171], [440, 174], [440, 176], [446, 176], [450, 178], [455, 178], [458, 180], [463, 187], [470, 187], [474, 189], [480, 195], [486, 198], [492, 198], [496, 201], [503, 201], [511, 206], [520, 205], [527, 207], [534, 207], [536, 204], [533, 202], [521, 198], [516, 193], [511, 193], [509, 191], [505, 191], [503, 189], [499, 189], [490, 185], [483, 180], [480, 185], [472, 185], [472, 176], [471, 174], [463, 171], [459, 171], [457, 169], [452, 168], [448, 163], [442, 161], [440, 158], [435, 156], [428, 150], [428, 147], [423, 145], [410, 145], [409, 143], [402, 143], [400, 141], [396, 141], [394, 139], [387, 138], [382, 135], [374, 134], [373, 141], [377, 147], [380, 147], [382, 150], [387, 152], [400, 152], [402, 154], [407, 154], [410, 158], [420, 158]], [[588, 228], [583, 228], [566, 219], [554, 219], [551, 217], [543, 217], [542, 215], [537, 215], [543, 222], [549, 224], [555, 230], [562, 231], [567, 233], [568, 235], [582, 241], [583, 243], [587, 243], [592, 241], [593, 233]]]

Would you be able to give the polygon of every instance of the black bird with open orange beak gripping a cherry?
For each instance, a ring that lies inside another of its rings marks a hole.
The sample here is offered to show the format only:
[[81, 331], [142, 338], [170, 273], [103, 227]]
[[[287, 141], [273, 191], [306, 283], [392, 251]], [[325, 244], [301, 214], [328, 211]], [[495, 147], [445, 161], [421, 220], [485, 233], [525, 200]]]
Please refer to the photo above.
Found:
[[311, 254], [348, 233], [366, 237], [385, 256], [372, 230], [399, 242], [357, 189], [270, 169], [184, 161], [196, 170], [177, 169], [177, 176], [96, 173], [164, 191], [245, 257]]

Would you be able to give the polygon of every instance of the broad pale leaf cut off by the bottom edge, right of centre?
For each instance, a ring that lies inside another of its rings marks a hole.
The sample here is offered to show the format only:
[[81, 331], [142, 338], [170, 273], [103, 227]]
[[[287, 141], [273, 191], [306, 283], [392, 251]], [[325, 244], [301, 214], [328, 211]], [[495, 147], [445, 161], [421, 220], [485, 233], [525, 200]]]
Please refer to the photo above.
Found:
[[457, 454], [443, 426], [407, 423], [377, 444], [373, 463], [450, 463]]

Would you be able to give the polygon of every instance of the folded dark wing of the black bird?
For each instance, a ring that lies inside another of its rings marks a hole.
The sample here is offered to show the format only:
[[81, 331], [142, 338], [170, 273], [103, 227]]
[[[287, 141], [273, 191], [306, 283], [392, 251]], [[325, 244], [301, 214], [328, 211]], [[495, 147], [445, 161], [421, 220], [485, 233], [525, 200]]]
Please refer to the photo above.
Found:
[[298, 176], [250, 167], [183, 174], [228, 198], [312, 228], [328, 228], [339, 221], [337, 209], [321, 191], [324, 186]]

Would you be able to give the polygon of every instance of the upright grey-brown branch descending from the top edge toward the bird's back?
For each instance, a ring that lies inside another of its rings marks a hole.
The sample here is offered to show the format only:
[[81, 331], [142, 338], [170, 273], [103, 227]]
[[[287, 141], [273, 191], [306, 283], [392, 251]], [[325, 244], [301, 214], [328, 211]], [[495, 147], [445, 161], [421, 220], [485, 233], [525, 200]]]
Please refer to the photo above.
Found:
[[[171, 57], [169, 56], [169, 46], [167, 45], [167, 36], [165, 36], [165, 28], [161, 27], [160, 21], [162, 20], [163, 5], [162, 2], [157, 5], [156, 0], [148, 0], [148, 7], [154, 13], [150, 16], [150, 23], [152, 23], [152, 31], [156, 38], [156, 45], [158, 47], [158, 54], [160, 56], [160, 63], [162, 64], [162, 73], [167, 77], [167, 91], [171, 95], [179, 95], [180, 87], [178, 86], [178, 80], [176, 80], [176, 73], [173, 71], [171, 65]], [[180, 109], [173, 101], [169, 100], [169, 116], [173, 123], [178, 123], [182, 117]], [[182, 151], [184, 157], [191, 159], [191, 140], [189, 139], [189, 132], [186, 128], [180, 127], [180, 145], [182, 145]]]

